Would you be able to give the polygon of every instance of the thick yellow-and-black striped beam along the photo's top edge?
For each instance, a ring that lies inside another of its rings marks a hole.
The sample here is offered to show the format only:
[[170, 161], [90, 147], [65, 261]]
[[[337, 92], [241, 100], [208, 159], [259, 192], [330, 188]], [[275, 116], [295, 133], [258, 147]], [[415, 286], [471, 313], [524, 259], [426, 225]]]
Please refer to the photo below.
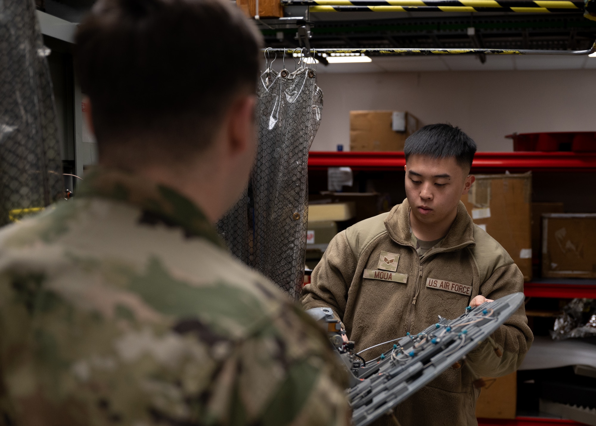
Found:
[[311, 12], [518, 12], [581, 13], [583, 1], [553, 0], [281, 0]]

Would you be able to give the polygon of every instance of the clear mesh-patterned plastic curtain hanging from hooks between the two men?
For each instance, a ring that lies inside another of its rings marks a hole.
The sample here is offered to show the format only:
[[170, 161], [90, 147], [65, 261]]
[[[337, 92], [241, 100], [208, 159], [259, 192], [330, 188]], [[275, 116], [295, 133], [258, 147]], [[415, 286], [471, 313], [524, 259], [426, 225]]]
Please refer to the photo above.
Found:
[[323, 94], [311, 68], [261, 75], [259, 148], [249, 188], [220, 221], [232, 253], [297, 298], [308, 215], [308, 150], [321, 122]]

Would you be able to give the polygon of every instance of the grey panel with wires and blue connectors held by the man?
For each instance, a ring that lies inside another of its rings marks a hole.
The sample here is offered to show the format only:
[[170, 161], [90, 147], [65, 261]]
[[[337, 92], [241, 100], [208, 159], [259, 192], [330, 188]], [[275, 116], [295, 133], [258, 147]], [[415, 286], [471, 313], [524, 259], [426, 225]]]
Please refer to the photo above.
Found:
[[[493, 302], [471, 308], [454, 320], [439, 316], [439, 321], [424, 331], [392, 339], [358, 353], [354, 342], [343, 341], [339, 320], [331, 308], [308, 310], [311, 316], [326, 324], [331, 343], [350, 373], [347, 396], [352, 406], [352, 424], [367, 426], [420, 390], [465, 355], [489, 340], [497, 356], [501, 350], [491, 334], [523, 304], [523, 293], [514, 293]], [[380, 345], [389, 350], [373, 360], [364, 361], [362, 353]], [[475, 381], [475, 385], [476, 385]]]

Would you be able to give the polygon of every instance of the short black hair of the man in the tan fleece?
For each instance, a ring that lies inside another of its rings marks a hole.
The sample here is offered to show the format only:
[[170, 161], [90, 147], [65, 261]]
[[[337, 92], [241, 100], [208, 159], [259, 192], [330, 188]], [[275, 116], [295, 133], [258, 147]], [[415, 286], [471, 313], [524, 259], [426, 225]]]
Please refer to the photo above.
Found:
[[476, 153], [476, 142], [457, 126], [429, 124], [409, 135], [403, 152], [406, 161], [412, 154], [432, 158], [455, 157], [461, 168], [470, 169]]

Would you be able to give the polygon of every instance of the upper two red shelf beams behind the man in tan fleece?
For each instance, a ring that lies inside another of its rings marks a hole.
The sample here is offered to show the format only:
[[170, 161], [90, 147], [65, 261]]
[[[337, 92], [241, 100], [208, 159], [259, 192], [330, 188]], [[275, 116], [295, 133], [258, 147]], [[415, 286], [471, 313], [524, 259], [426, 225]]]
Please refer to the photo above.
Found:
[[[406, 163], [403, 152], [322, 152], [309, 153], [308, 167], [351, 167], [354, 170], [402, 170]], [[477, 152], [472, 172], [502, 173], [526, 171], [596, 172], [596, 152]], [[596, 282], [577, 283], [529, 282], [524, 285], [528, 297], [596, 298]]]

